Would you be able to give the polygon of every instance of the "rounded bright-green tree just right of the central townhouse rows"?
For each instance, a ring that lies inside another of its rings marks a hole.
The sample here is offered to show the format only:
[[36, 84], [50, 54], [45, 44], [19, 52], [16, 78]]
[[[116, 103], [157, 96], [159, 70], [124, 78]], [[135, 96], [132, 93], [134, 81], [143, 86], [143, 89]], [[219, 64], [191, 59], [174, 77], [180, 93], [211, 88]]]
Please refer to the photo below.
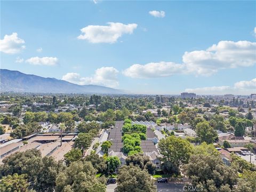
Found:
[[161, 139], [158, 143], [158, 149], [163, 161], [172, 162], [179, 167], [181, 164], [188, 162], [193, 147], [189, 141], [172, 135]]

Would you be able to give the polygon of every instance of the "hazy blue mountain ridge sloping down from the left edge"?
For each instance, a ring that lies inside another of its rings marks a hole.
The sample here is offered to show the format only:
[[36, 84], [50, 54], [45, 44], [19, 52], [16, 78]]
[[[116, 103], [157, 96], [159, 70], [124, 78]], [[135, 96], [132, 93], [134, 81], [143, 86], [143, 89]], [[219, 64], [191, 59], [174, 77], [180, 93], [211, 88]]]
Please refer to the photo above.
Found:
[[103, 93], [123, 94], [124, 91], [99, 85], [77, 85], [67, 81], [23, 74], [20, 71], [0, 69], [1, 92], [32, 93]]

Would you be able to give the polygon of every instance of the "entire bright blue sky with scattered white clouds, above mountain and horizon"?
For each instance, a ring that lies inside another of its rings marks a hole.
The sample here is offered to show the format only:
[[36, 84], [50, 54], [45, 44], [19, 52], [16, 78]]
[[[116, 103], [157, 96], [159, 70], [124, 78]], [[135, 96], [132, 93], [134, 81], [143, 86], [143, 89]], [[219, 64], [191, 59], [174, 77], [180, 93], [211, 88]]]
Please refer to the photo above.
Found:
[[1, 68], [134, 93], [255, 93], [255, 13], [255, 1], [1, 1]]

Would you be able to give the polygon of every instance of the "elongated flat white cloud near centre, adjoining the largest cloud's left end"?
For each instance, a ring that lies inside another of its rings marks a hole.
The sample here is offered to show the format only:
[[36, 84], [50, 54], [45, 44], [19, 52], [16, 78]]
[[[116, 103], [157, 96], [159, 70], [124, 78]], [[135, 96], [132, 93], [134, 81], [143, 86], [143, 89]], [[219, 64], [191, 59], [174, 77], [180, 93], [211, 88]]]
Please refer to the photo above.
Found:
[[146, 65], [135, 64], [125, 69], [123, 74], [132, 78], [167, 77], [182, 73], [184, 65], [173, 62], [151, 62]]

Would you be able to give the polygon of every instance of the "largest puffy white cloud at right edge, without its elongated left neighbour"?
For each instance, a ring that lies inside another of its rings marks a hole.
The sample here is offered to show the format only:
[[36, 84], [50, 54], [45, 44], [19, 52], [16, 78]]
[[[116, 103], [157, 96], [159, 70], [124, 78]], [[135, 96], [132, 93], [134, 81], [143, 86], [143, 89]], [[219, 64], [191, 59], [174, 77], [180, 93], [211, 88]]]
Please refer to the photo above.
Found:
[[249, 67], [256, 62], [256, 43], [220, 41], [206, 51], [185, 52], [182, 57], [189, 73], [209, 76], [219, 69]]

